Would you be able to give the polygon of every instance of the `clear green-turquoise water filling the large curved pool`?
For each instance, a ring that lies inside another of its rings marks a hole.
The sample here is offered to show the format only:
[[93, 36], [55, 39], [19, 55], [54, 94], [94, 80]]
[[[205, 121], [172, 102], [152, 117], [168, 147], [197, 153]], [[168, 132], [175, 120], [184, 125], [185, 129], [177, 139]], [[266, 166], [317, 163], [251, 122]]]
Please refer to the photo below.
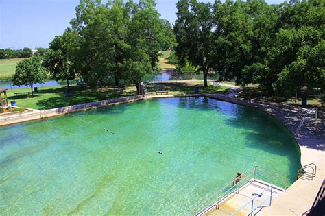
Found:
[[184, 215], [254, 165], [293, 183], [300, 150], [253, 108], [181, 97], [78, 112], [0, 128], [0, 214]]

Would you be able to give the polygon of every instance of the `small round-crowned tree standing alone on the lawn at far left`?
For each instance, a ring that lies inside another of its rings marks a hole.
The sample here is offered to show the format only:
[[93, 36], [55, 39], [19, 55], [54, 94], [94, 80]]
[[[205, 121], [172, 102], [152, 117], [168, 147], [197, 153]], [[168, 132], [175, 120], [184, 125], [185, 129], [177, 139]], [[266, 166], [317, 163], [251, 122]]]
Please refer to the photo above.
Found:
[[33, 85], [43, 83], [47, 78], [42, 60], [38, 57], [24, 59], [16, 66], [16, 72], [12, 75], [12, 82], [16, 86], [29, 85], [33, 93]]

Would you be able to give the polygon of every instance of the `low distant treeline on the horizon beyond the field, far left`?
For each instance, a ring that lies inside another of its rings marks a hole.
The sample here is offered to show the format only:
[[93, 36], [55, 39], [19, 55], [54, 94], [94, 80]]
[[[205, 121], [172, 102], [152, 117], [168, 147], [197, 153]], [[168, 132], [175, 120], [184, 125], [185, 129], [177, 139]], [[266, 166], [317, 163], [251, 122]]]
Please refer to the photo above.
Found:
[[[36, 52], [34, 53], [34, 56], [43, 56], [46, 49], [42, 47], [36, 48]], [[0, 49], [0, 59], [6, 59], [6, 58], [29, 58], [33, 56], [32, 49], [28, 47], [24, 47], [23, 49]]]

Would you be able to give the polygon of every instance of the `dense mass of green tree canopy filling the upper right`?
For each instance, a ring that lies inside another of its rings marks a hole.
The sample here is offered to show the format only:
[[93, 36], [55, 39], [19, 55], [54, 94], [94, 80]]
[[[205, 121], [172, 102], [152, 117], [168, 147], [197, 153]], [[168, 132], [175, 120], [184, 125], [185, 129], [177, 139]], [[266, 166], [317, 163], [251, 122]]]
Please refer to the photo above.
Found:
[[289, 95], [302, 86], [324, 91], [324, 2], [180, 0], [176, 56], [221, 80], [260, 84], [268, 95], [274, 89]]

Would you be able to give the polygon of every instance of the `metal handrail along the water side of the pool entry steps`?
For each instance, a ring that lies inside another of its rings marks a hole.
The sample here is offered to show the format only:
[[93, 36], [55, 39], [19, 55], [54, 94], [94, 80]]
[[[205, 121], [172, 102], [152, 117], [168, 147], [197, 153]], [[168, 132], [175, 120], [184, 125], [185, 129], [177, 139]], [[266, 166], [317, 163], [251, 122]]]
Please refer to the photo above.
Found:
[[[254, 171], [253, 171], [253, 169], [254, 169]], [[275, 171], [273, 169], [267, 169], [265, 167], [254, 166], [242, 173], [243, 177], [241, 178], [241, 182], [234, 184], [234, 180], [232, 180], [231, 182], [226, 184], [225, 187], [219, 189], [219, 191], [217, 191], [216, 193], [213, 193], [213, 195], [211, 195], [206, 200], [204, 200], [204, 202], [195, 206], [195, 208], [192, 208], [189, 211], [189, 214], [194, 213], [194, 215], [199, 215], [200, 213], [205, 211], [206, 208], [208, 208], [209, 206], [211, 206], [211, 207], [215, 206], [216, 209], [219, 209], [220, 202], [224, 199], [224, 197], [227, 197], [228, 195], [230, 195], [231, 193], [234, 193], [234, 192], [239, 193], [240, 187], [242, 187], [244, 184], [249, 182], [249, 180], [243, 181], [244, 179], [249, 178], [249, 177], [253, 178], [253, 176], [254, 176], [254, 181], [256, 181], [256, 174], [262, 173], [261, 171], [258, 171], [257, 169], [263, 169], [263, 170], [270, 171], [272, 173], [276, 173], [280, 176], [285, 176], [285, 191], [284, 192], [286, 192], [286, 190], [287, 190], [287, 175], [285, 173], [282, 173], [280, 171]], [[250, 173], [250, 172], [252, 172], [252, 173]], [[263, 173], [263, 175], [267, 176], [268, 178], [272, 178], [273, 180], [275, 180], [275, 179], [278, 180], [278, 178], [274, 178], [274, 176], [272, 176], [272, 175], [267, 175], [265, 173]], [[230, 188], [227, 189], [228, 187], [230, 187]], [[227, 190], [224, 191], [225, 189], [227, 189]]]

